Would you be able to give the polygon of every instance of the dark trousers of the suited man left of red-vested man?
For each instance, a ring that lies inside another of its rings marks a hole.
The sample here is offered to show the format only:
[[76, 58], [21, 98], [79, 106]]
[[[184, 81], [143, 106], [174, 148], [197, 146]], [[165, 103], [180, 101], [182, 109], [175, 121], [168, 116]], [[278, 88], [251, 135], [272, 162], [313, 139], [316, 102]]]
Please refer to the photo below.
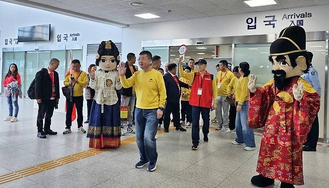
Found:
[[163, 117], [163, 128], [168, 129], [170, 124], [170, 114], [172, 113], [173, 126], [179, 127], [179, 102], [175, 103], [166, 103], [165, 104], [165, 113]]

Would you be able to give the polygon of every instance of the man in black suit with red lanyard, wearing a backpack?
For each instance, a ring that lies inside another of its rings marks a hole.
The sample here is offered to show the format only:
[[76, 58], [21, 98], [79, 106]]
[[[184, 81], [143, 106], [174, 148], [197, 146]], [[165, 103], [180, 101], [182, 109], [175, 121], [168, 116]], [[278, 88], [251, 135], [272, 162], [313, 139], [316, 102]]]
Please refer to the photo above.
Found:
[[[59, 79], [55, 69], [59, 65], [59, 60], [52, 58], [47, 68], [42, 68], [35, 74], [35, 98], [39, 105], [37, 111], [37, 137], [45, 138], [46, 134], [57, 134], [50, 129], [53, 109], [59, 100]], [[43, 118], [44, 127], [43, 127]]]

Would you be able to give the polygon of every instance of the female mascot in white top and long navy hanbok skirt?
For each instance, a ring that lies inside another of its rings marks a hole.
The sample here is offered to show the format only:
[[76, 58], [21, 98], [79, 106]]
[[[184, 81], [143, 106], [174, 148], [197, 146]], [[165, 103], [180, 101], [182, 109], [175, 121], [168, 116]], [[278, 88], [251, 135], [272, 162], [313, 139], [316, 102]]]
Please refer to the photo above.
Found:
[[89, 147], [98, 149], [120, 145], [120, 103], [116, 90], [122, 85], [115, 71], [119, 61], [115, 44], [111, 40], [102, 41], [96, 55], [99, 69], [92, 72], [88, 68], [89, 86], [95, 90], [87, 132]]

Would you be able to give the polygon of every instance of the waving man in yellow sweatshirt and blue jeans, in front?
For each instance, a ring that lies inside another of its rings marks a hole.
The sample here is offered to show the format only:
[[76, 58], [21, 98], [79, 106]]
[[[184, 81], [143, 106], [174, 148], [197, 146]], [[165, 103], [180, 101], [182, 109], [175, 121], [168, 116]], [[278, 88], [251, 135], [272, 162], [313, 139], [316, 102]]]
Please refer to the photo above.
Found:
[[141, 51], [138, 57], [138, 64], [142, 70], [135, 72], [128, 79], [124, 76], [124, 63], [121, 62], [119, 67], [122, 86], [124, 88], [134, 86], [136, 89], [136, 143], [139, 149], [140, 161], [135, 164], [135, 167], [142, 168], [148, 165], [148, 171], [156, 169], [155, 134], [166, 98], [162, 74], [151, 67], [151, 61], [151, 52]]

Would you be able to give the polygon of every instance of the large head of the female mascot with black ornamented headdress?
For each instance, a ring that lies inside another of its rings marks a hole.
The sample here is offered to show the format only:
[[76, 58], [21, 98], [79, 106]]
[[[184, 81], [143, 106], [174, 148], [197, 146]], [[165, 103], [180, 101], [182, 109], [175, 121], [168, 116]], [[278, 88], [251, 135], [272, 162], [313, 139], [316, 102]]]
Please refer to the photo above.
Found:
[[96, 65], [103, 70], [113, 70], [120, 62], [119, 50], [111, 41], [101, 41], [96, 54]]

